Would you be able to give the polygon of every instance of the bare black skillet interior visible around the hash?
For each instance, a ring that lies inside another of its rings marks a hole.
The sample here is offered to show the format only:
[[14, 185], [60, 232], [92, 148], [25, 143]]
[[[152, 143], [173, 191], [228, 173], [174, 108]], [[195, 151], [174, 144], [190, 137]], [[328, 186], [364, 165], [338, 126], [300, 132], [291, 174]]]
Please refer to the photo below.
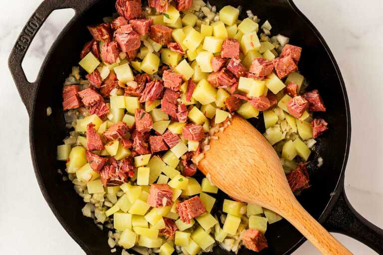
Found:
[[[212, 0], [217, 9], [227, 1]], [[304, 191], [298, 200], [316, 219], [324, 212], [331, 193], [335, 190], [342, 172], [342, 164], [347, 143], [347, 112], [344, 92], [336, 68], [322, 43], [303, 18], [298, 16], [284, 0], [230, 1], [233, 6], [242, 5], [243, 10], [252, 9], [263, 23], [266, 19], [272, 24], [273, 34], [281, 33], [291, 38], [291, 44], [303, 47], [299, 70], [310, 83], [308, 89], [319, 89], [327, 107], [323, 117], [330, 129], [319, 139], [316, 153], [324, 158], [320, 169], [311, 170], [312, 187]], [[61, 39], [54, 44], [51, 55], [42, 70], [38, 93], [31, 114], [31, 147], [38, 179], [45, 197], [54, 213], [88, 254], [109, 254], [107, 231], [101, 232], [93, 221], [81, 213], [84, 206], [70, 182], [63, 182], [57, 168], [64, 169], [62, 162], [56, 161], [56, 145], [67, 135], [62, 111], [62, 83], [77, 65], [83, 44], [90, 40], [86, 25], [102, 22], [102, 17], [114, 12], [114, 1], [100, 0], [84, 13]], [[242, 11], [241, 18], [246, 14]], [[53, 114], [46, 116], [46, 108], [52, 107]], [[322, 116], [318, 114], [316, 116]], [[262, 118], [252, 120], [262, 129]], [[312, 164], [315, 165], [315, 164]], [[221, 197], [222, 198], [222, 197]], [[286, 221], [269, 225], [266, 233], [269, 249], [260, 254], [288, 254], [301, 243], [302, 235]], [[228, 254], [215, 249], [214, 254]], [[240, 255], [252, 254], [241, 250]]]

